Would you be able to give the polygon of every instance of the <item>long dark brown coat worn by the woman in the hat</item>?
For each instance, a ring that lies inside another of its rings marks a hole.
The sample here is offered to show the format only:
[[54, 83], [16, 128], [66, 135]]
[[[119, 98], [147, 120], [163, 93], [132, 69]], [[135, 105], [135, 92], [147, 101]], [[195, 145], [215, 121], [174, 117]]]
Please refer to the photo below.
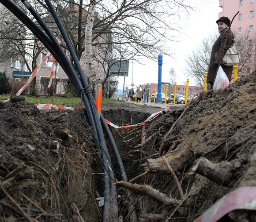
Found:
[[[233, 33], [230, 29], [230, 33], [227, 38], [226, 45], [224, 45], [226, 36], [228, 34], [228, 30], [229, 30], [229, 27], [224, 29], [218, 36], [218, 39], [213, 44], [213, 47], [211, 50], [210, 65], [209, 65], [209, 69], [208, 69], [207, 83], [213, 84], [215, 75], [217, 73], [219, 61], [221, 61], [221, 63], [220, 63], [221, 67], [222, 67], [223, 71], [226, 73], [226, 75], [228, 76], [229, 80], [231, 78], [233, 66], [225, 66], [222, 64], [222, 58], [226, 54], [226, 51], [232, 45], [232, 42], [233, 42]], [[222, 55], [223, 47], [224, 47], [224, 52]]]

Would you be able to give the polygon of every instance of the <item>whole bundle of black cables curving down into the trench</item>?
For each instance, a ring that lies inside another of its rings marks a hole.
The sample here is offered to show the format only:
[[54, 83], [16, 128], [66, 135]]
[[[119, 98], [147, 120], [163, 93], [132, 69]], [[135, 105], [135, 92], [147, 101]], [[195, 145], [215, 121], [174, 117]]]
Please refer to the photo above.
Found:
[[[45, 0], [47, 7], [49, 8], [50, 13], [52, 14], [56, 25], [58, 26], [62, 37], [70, 51], [72, 59], [75, 63], [76, 69], [78, 73], [76, 73], [74, 67], [72, 66], [71, 62], [69, 61], [67, 55], [64, 53], [63, 49], [60, 47], [56, 37], [50, 31], [48, 26], [42, 20], [42, 18], [38, 15], [38, 13], [34, 10], [31, 4], [27, 0], [21, 0], [26, 8], [30, 11], [30, 13], [34, 16], [37, 20], [38, 24], [41, 25], [41, 28], [45, 31], [43, 32], [18, 6], [16, 6], [11, 0], [0, 0], [9, 11], [11, 11], [21, 22], [38, 39], [41, 41], [42, 44], [49, 50], [49, 52], [56, 58], [56, 61], [60, 64], [64, 72], [67, 74], [68, 78], [74, 84], [76, 90], [78, 91], [81, 99], [84, 103], [85, 109], [87, 111], [87, 115], [90, 121], [92, 135], [94, 136], [94, 142], [96, 144], [96, 148], [102, 150], [102, 170], [104, 175], [104, 217], [103, 220], [107, 222], [114, 222], [118, 221], [118, 203], [117, 203], [117, 190], [114, 184], [115, 177], [113, 172], [113, 167], [111, 164], [111, 160], [109, 158], [109, 152], [105, 143], [105, 138], [103, 134], [104, 128], [105, 132], [108, 135], [109, 141], [113, 147], [115, 157], [117, 159], [117, 163], [119, 165], [120, 173], [122, 179], [124, 181], [128, 181], [127, 175], [124, 170], [124, 165], [120, 158], [120, 154], [118, 152], [116, 143], [113, 139], [113, 136], [109, 130], [109, 127], [105, 123], [104, 117], [101, 115], [99, 118], [98, 112], [95, 106], [95, 101], [93, 95], [90, 90], [90, 86], [87, 83], [86, 76], [83, 73], [83, 70], [80, 66], [79, 60], [75, 54], [75, 50], [72, 47], [72, 44], [68, 38], [67, 33], [64, 30], [63, 25], [58, 18], [56, 11], [54, 10], [53, 5], [51, 4], [50, 0]], [[127, 190], [126, 196], [130, 198], [130, 192]], [[129, 206], [130, 209], [130, 221], [137, 221], [135, 211], [132, 205]]]

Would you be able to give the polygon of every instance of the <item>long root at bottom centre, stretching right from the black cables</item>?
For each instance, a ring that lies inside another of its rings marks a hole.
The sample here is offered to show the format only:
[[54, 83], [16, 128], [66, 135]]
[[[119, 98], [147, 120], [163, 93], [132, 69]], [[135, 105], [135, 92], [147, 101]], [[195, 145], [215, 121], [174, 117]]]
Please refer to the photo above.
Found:
[[152, 188], [151, 186], [132, 184], [124, 181], [116, 182], [116, 185], [122, 186], [126, 189], [130, 189], [141, 195], [146, 195], [148, 197], [151, 197], [152, 199], [154, 199], [156, 202], [160, 204], [173, 205], [176, 207], [180, 203], [180, 201], [167, 197], [166, 194], [161, 193], [160, 191]]

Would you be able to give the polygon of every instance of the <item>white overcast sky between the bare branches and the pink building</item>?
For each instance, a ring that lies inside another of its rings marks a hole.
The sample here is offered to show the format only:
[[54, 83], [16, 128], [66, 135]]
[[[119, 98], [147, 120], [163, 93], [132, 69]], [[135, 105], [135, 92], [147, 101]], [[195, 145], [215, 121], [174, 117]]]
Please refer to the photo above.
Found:
[[[199, 4], [203, 1], [196, 2]], [[184, 34], [181, 34], [181, 41], [175, 44], [170, 43], [172, 53], [175, 53], [173, 55], [174, 58], [163, 56], [162, 82], [169, 82], [168, 73], [171, 68], [176, 71], [177, 84], [183, 84], [189, 78], [184, 71], [186, 66], [185, 57], [200, 44], [202, 39], [217, 32], [216, 20], [218, 19], [218, 13], [221, 11], [218, 4], [219, 0], [207, 0], [207, 3], [197, 5], [197, 11], [192, 11], [188, 19], [182, 21]], [[140, 65], [130, 61], [129, 74], [128, 77], [125, 77], [125, 87], [131, 87], [132, 76], [135, 86], [146, 83], [158, 83], [158, 62], [145, 58], [144, 63], [145, 65]], [[118, 88], [123, 89], [123, 84], [124, 77], [119, 77]], [[189, 78], [189, 85], [193, 84], [195, 82]]]

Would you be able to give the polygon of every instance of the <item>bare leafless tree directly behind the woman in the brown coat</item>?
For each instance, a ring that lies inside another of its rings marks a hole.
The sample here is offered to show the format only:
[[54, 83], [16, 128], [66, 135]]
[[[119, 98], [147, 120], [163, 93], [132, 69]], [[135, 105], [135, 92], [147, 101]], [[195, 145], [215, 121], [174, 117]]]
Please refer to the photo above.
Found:
[[[200, 45], [186, 57], [186, 72], [201, 87], [204, 86], [204, 75], [209, 67], [211, 49], [217, 38], [218, 34], [215, 34], [203, 39]], [[247, 69], [254, 65], [256, 37], [255, 34], [245, 33], [236, 35], [235, 40], [241, 55], [238, 76], [246, 75]]]

